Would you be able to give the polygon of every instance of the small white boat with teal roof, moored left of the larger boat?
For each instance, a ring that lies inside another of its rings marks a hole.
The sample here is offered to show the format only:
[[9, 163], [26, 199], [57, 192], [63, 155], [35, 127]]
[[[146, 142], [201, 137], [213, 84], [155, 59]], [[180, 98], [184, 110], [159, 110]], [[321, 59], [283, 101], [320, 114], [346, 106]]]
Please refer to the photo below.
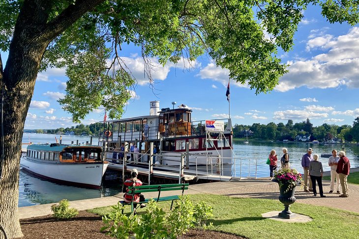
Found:
[[108, 161], [99, 146], [32, 144], [20, 166], [40, 177], [72, 185], [99, 188]]

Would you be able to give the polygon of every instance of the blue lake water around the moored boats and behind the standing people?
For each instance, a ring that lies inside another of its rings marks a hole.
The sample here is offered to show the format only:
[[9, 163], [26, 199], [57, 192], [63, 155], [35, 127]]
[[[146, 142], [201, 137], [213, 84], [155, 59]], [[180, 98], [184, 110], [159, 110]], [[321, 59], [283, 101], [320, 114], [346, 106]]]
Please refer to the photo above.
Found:
[[[60, 140], [58, 134], [42, 134], [42, 133], [24, 133], [23, 143], [54, 143], [55, 137]], [[90, 142], [89, 136], [79, 135], [62, 135], [62, 143], [70, 144], [71, 141], [76, 143]], [[97, 145], [98, 138], [92, 137], [92, 144]], [[305, 142], [243, 142], [234, 143], [234, 153], [238, 158], [236, 163], [236, 175], [243, 177], [255, 177], [257, 168], [257, 177], [269, 177], [269, 166], [266, 164], [270, 150], [276, 150], [278, 158], [282, 156], [282, 148], [286, 147], [290, 155], [291, 167], [296, 168], [299, 172], [303, 172], [301, 167], [301, 157], [306, 153], [307, 148], [313, 148], [313, 153], [329, 154], [332, 149], [338, 151], [345, 148], [346, 156], [350, 159], [352, 167], [359, 167], [359, 146], [342, 145], [342, 144], [312, 144]], [[26, 145], [23, 146], [26, 148]], [[242, 171], [239, 174], [239, 160], [242, 161]], [[323, 163], [324, 171], [329, 171], [327, 158], [319, 158]], [[19, 207], [31, 206], [37, 204], [57, 203], [61, 199], [81, 200], [90, 198], [99, 198], [116, 195], [120, 193], [121, 185], [119, 180], [105, 180], [100, 189], [81, 188], [76, 186], [65, 186], [47, 181], [45, 179], [34, 176], [26, 171], [20, 170], [19, 181]]]

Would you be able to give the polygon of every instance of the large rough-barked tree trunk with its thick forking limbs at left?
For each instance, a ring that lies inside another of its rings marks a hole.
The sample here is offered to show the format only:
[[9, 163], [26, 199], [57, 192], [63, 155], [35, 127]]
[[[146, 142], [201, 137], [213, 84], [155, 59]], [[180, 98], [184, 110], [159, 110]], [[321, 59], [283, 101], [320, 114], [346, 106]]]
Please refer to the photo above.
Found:
[[[76, 0], [52, 22], [48, 22], [53, 1], [24, 0], [3, 72], [0, 59], [0, 94], [3, 90], [4, 97], [3, 122], [0, 122], [4, 132], [3, 137], [0, 137], [0, 225], [9, 239], [23, 236], [18, 216], [21, 145], [25, 119], [43, 54], [56, 36], [103, 1]], [[0, 231], [0, 239], [3, 238]]]

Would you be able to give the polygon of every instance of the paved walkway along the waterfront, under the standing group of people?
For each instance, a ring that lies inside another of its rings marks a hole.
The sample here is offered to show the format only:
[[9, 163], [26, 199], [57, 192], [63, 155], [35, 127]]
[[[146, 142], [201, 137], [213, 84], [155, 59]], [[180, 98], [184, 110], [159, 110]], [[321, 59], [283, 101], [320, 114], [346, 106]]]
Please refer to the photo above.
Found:
[[[359, 168], [351, 168], [350, 170], [351, 172], [359, 172]], [[328, 175], [328, 172], [326, 172], [325, 175]], [[306, 193], [303, 191], [303, 189], [299, 189], [298, 187], [296, 191], [297, 202], [317, 206], [333, 207], [359, 213], [359, 185], [348, 184], [349, 197], [340, 198], [339, 194], [328, 193], [330, 190], [329, 183], [329, 181], [323, 181], [323, 190], [327, 196], [326, 198], [321, 198], [319, 196], [314, 197], [313, 193]], [[174, 195], [173, 193], [174, 191], [165, 191], [161, 192], [161, 196]], [[177, 192], [175, 191], [175, 193]], [[186, 191], [186, 194], [197, 193], [209, 193], [240, 198], [263, 198], [278, 200], [279, 188], [277, 183], [271, 182], [269, 178], [263, 178], [257, 180], [241, 180], [190, 185], [189, 189]], [[122, 194], [123, 193], [120, 193], [112, 197], [72, 201], [70, 202], [70, 205], [71, 207], [74, 207], [78, 210], [115, 205], [119, 200], [122, 200]], [[155, 197], [156, 195], [156, 193], [146, 193], [147, 198]], [[19, 217], [28, 218], [51, 214], [51, 205], [53, 205], [53, 203], [21, 207], [19, 208]]]

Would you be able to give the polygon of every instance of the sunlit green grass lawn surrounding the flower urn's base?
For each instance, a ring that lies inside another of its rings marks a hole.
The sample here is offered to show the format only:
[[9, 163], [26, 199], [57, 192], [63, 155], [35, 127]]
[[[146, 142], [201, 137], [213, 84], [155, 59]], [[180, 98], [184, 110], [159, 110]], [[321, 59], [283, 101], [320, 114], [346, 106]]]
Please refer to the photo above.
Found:
[[[270, 211], [282, 211], [284, 206], [278, 200], [231, 198], [212, 194], [190, 195], [190, 198], [194, 203], [205, 201], [213, 207], [214, 216], [210, 221], [216, 231], [250, 239], [359, 238], [359, 213], [355, 212], [294, 203], [291, 206], [292, 212], [310, 216], [313, 220], [307, 223], [286, 223], [263, 218], [261, 215]], [[167, 202], [160, 203], [160, 206], [166, 210], [170, 208]], [[129, 208], [127, 206], [125, 212], [130, 212]], [[110, 210], [110, 207], [105, 207], [89, 211], [104, 215]]]

